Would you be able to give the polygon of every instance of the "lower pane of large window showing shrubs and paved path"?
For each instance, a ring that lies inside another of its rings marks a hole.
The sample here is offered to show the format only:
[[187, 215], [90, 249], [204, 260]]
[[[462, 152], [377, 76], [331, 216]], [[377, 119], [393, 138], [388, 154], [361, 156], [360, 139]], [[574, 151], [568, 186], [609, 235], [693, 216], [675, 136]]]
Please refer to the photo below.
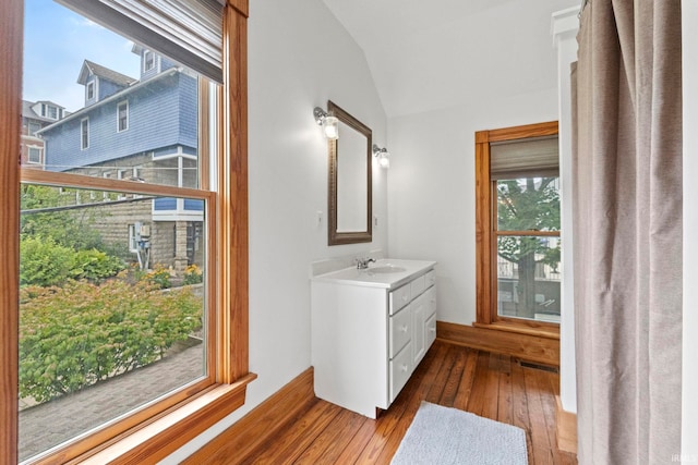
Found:
[[204, 207], [22, 185], [21, 460], [206, 375]]

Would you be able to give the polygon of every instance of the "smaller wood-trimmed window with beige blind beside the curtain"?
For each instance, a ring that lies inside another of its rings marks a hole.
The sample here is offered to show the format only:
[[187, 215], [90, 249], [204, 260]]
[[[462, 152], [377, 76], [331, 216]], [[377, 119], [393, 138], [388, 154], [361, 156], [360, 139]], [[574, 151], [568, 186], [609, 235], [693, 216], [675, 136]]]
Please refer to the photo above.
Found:
[[555, 331], [557, 122], [476, 133], [477, 325]]

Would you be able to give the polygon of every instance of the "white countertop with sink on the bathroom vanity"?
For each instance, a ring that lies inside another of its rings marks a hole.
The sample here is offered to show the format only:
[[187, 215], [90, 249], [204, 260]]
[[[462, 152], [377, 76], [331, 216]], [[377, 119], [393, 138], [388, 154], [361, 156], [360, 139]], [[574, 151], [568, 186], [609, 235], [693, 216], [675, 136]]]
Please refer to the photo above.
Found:
[[[312, 281], [329, 282], [346, 285], [396, 289], [407, 283], [412, 277], [425, 273], [434, 268], [436, 261], [381, 259], [360, 270], [357, 267], [344, 268], [312, 277]], [[393, 268], [395, 271], [392, 271]]]

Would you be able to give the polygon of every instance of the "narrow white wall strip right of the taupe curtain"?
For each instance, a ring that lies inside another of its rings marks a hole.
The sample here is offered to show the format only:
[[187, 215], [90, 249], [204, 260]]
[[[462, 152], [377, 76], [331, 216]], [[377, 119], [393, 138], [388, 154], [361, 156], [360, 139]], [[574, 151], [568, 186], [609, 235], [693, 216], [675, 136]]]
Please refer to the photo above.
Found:
[[684, 91], [684, 334], [682, 454], [698, 462], [698, 1], [682, 1]]

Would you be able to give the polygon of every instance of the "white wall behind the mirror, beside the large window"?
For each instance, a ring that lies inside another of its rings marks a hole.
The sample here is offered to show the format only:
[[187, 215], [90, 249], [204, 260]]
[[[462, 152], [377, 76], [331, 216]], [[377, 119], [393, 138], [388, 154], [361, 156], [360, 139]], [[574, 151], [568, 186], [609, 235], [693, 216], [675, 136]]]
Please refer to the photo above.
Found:
[[165, 463], [190, 455], [310, 367], [311, 261], [387, 247], [386, 172], [375, 167], [373, 243], [327, 246], [327, 143], [312, 112], [330, 99], [385, 145], [386, 117], [363, 52], [321, 0], [250, 3], [250, 369], [258, 378], [244, 407]]

